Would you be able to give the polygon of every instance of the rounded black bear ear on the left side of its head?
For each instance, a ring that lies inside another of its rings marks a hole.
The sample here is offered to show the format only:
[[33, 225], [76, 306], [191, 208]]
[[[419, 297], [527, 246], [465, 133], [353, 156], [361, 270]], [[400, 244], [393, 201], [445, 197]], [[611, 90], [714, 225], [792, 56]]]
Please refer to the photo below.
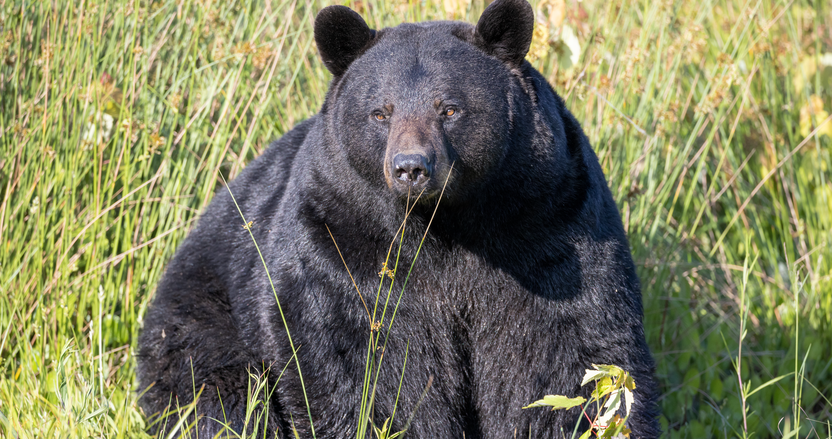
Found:
[[374, 35], [364, 18], [349, 7], [324, 7], [314, 19], [314, 42], [324, 66], [334, 76], [347, 70]]

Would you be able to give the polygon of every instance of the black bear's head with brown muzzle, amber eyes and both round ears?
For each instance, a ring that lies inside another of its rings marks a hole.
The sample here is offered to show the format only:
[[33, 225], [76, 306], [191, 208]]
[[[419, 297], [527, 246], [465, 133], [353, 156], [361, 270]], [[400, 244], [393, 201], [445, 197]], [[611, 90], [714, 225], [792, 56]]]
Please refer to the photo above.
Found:
[[476, 27], [378, 32], [349, 7], [324, 7], [314, 38], [334, 76], [322, 110], [330, 143], [359, 178], [400, 198], [497, 183], [513, 144], [530, 142], [515, 131], [532, 99], [521, 71], [533, 22], [526, 0], [491, 3]]

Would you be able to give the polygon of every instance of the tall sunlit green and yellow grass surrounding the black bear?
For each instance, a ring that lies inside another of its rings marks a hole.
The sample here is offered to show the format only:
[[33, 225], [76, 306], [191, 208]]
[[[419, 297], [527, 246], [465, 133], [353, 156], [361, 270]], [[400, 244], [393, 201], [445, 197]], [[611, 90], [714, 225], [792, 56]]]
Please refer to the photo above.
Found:
[[[484, 7], [345, 4], [375, 28]], [[830, 3], [534, 4], [529, 60], [630, 237], [666, 437], [830, 437]], [[141, 316], [221, 178], [319, 108], [324, 6], [0, 0], [3, 437], [147, 436]]]

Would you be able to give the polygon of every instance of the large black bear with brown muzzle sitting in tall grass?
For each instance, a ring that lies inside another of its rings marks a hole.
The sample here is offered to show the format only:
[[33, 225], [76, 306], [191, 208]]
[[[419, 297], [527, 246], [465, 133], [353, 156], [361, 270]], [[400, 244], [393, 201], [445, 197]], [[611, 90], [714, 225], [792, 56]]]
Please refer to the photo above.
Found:
[[[207, 417], [241, 429], [249, 373], [271, 367], [267, 437], [353, 436], [380, 331], [374, 422], [394, 410], [407, 350], [391, 428], [413, 412], [407, 437], [570, 437], [587, 428], [580, 408], [521, 407], [586, 396], [592, 363], [631, 372], [631, 437], [658, 436], [621, 217], [577, 120], [524, 60], [533, 22], [525, 0], [491, 3], [476, 26], [374, 31], [348, 7], [319, 12], [324, 105], [230, 183], [235, 200], [217, 194], [167, 267], [140, 339], [147, 414], [204, 384], [202, 437], [220, 429]], [[399, 240], [393, 300], [370, 321]]]

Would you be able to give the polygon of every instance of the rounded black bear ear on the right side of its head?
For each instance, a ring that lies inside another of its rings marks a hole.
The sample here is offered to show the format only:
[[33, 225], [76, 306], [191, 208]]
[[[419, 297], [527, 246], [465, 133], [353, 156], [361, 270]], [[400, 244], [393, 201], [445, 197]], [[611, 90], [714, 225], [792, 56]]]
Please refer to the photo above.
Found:
[[533, 31], [532, 5], [526, 0], [497, 0], [479, 17], [474, 40], [489, 55], [520, 66], [532, 44]]

